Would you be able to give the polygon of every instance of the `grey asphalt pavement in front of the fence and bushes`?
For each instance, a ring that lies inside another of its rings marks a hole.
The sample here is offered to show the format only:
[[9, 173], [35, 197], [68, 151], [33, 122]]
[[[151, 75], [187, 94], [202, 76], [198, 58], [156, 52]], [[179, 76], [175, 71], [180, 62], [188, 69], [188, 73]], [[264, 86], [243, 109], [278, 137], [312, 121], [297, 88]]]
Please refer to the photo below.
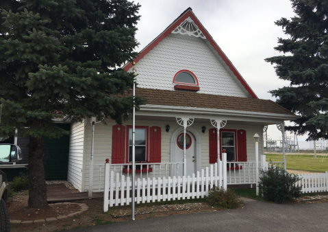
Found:
[[277, 205], [244, 202], [244, 209], [192, 213], [71, 231], [328, 231], [328, 202]]

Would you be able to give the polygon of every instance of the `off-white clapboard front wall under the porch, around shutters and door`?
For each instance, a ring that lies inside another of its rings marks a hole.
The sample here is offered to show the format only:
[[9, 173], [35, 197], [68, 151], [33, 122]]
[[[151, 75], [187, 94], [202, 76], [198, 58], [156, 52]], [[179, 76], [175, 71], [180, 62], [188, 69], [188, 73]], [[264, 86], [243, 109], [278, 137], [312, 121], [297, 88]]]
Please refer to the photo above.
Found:
[[[112, 120], [106, 121], [107, 125], [96, 124], [94, 128], [94, 178], [92, 183], [92, 188], [97, 189], [99, 187], [99, 165], [105, 163], [105, 159], [110, 159], [112, 163], [112, 126], [116, 123]], [[124, 126], [131, 125], [131, 121], [125, 122]], [[171, 126], [169, 132], [166, 132], [166, 125]], [[170, 143], [171, 135], [173, 132], [181, 127], [174, 121], [144, 121], [137, 120], [136, 126], [160, 126], [162, 128], [162, 163], [170, 162]], [[201, 127], [206, 126], [207, 130], [205, 133], [201, 132]], [[201, 139], [201, 168], [205, 169], [210, 167], [210, 157], [209, 157], [209, 135], [208, 130], [212, 128], [210, 123], [194, 123], [191, 126], [194, 130], [197, 130], [199, 137]], [[226, 129], [239, 130], [244, 129], [247, 132], [247, 161], [255, 162], [255, 142], [253, 135], [255, 133], [262, 135], [262, 126], [260, 125], [242, 125], [242, 124], [227, 124]], [[188, 128], [187, 128], [188, 130]], [[262, 138], [260, 138], [259, 144], [262, 143]], [[89, 175], [90, 175], [90, 148], [91, 148], [91, 125], [88, 123], [86, 126], [86, 152], [84, 154], [85, 160], [85, 178], [84, 178], [84, 191], [89, 187]], [[263, 154], [262, 146], [259, 146], [259, 155]], [[116, 170], [118, 171], [118, 170]], [[102, 170], [103, 172], [103, 170]], [[138, 177], [138, 175], [136, 175]], [[103, 176], [101, 177], [101, 185], [103, 185]]]

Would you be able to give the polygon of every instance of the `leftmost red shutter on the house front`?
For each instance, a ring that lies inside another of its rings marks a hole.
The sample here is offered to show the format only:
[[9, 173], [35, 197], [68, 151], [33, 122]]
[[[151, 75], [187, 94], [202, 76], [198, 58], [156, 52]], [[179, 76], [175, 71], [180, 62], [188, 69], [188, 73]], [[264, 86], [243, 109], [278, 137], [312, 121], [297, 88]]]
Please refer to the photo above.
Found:
[[112, 163], [125, 163], [125, 126], [113, 126]]

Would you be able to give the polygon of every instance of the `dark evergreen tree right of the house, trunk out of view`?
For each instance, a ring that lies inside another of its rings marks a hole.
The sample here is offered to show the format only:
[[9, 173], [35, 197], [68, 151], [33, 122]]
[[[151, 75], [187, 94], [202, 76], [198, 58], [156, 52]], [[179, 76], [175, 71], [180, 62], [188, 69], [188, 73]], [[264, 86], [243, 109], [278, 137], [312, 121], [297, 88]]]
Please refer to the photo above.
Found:
[[278, 38], [275, 50], [283, 56], [266, 58], [275, 64], [277, 76], [290, 86], [270, 91], [277, 103], [301, 117], [286, 130], [328, 139], [328, 1], [291, 0], [295, 16], [281, 18], [289, 38]]

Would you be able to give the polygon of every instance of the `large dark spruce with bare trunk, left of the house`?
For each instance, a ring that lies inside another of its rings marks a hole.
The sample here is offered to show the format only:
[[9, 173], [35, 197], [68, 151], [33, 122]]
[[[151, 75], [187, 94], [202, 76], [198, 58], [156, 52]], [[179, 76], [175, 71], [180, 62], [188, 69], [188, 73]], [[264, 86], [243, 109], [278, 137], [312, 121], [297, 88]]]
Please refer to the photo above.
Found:
[[[29, 207], [47, 207], [43, 137], [67, 134], [53, 122], [95, 116], [122, 124], [134, 76], [140, 5], [127, 0], [1, 0], [1, 135], [29, 137]], [[136, 106], [142, 104], [136, 98]]]

